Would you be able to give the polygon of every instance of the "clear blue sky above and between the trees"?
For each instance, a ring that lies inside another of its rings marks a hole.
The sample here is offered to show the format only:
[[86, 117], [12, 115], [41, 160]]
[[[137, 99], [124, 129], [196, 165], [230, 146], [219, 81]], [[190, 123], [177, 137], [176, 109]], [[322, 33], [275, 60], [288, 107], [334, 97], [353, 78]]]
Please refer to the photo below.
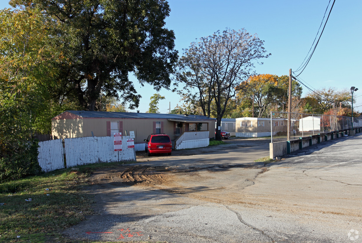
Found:
[[[195, 39], [211, 35], [217, 30], [223, 31], [227, 27], [235, 30], [244, 28], [250, 34], [256, 33], [265, 41], [264, 47], [271, 56], [262, 60], [263, 65], [256, 64], [255, 71], [281, 76], [289, 74], [290, 68], [295, 71], [302, 64], [312, 46], [328, 2], [329, 0], [169, 0], [171, 13], [166, 19], [166, 27], [175, 32], [176, 49], [180, 56], [182, 49], [188, 48]], [[330, 6], [332, 3], [333, 0]], [[0, 3], [0, 8], [6, 7], [9, 6]], [[299, 76], [314, 89], [360, 88], [354, 93], [357, 100], [354, 107], [360, 112], [361, 10], [360, 0], [336, 1], [318, 46]], [[136, 110], [146, 112], [150, 97], [156, 91], [151, 86], [141, 87], [136, 80], [134, 82], [136, 90], [143, 97]], [[161, 113], [168, 112], [169, 102], [171, 110], [181, 104], [176, 93], [165, 89], [159, 93], [166, 98], [159, 103]], [[303, 86], [303, 97], [306, 94], [307, 88]]]

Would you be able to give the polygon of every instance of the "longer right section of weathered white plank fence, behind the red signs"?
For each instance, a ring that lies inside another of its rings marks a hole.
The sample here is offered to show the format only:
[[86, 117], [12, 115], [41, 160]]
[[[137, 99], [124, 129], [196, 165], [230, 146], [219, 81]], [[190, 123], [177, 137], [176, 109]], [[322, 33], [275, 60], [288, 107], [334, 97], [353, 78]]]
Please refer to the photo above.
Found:
[[114, 151], [113, 137], [77, 137], [64, 139], [67, 167], [100, 162], [134, 161], [133, 148], [122, 138], [122, 151]]

